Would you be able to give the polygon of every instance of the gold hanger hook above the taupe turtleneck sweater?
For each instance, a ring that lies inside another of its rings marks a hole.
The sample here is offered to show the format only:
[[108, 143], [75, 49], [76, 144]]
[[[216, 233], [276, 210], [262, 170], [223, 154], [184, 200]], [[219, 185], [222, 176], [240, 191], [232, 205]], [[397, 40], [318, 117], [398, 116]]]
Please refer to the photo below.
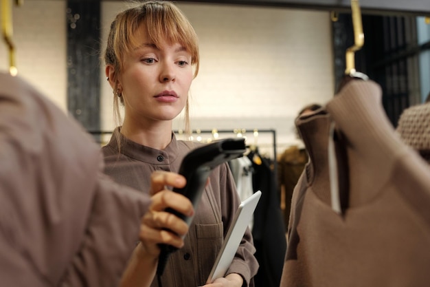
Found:
[[352, 27], [354, 29], [354, 45], [346, 50], [345, 74], [350, 75], [355, 70], [355, 52], [364, 45], [363, 23], [361, 22], [361, 9], [359, 0], [351, 0]]

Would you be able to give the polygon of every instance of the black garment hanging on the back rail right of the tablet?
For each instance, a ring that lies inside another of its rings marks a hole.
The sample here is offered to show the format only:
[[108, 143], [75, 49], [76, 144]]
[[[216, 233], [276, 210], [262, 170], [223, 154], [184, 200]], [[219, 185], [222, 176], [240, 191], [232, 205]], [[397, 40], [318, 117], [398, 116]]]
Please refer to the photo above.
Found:
[[260, 156], [258, 151], [251, 151], [247, 156], [253, 162], [253, 190], [262, 192], [252, 229], [260, 264], [254, 280], [256, 286], [279, 287], [286, 238], [276, 178], [269, 159]]

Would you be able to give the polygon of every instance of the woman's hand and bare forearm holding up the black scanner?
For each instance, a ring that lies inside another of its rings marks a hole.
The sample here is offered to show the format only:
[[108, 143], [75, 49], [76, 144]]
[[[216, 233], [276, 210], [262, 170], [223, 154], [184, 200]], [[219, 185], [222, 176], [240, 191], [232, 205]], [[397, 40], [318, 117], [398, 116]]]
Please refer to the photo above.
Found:
[[164, 211], [174, 209], [186, 216], [194, 215], [192, 202], [185, 196], [166, 189], [167, 186], [182, 188], [185, 178], [177, 173], [155, 171], [151, 175], [150, 194], [152, 203], [142, 217], [140, 242], [131, 256], [122, 276], [122, 287], [150, 286], [155, 276], [160, 248], [158, 244], [183, 246], [182, 237], [188, 225], [179, 217]]

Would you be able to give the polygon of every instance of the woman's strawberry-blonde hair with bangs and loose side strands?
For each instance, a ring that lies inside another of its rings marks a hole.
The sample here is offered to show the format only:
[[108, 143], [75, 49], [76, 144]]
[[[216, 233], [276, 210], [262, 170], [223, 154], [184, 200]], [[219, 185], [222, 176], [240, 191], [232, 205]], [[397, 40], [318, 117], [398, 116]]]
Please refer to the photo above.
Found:
[[[117, 75], [122, 73], [124, 54], [131, 52], [137, 45], [135, 36], [139, 26], [144, 24], [148, 40], [159, 46], [167, 41], [169, 44], [180, 43], [191, 54], [191, 65], [194, 67], [194, 78], [199, 73], [199, 44], [196, 32], [183, 12], [169, 1], [133, 1], [135, 5], [120, 12], [111, 23], [104, 62], [112, 65], [114, 69], [115, 86], [113, 88], [113, 114], [118, 125], [120, 116], [120, 103], [124, 105], [122, 97], [117, 95]], [[185, 103], [185, 131], [190, 132], [189, 97]]]

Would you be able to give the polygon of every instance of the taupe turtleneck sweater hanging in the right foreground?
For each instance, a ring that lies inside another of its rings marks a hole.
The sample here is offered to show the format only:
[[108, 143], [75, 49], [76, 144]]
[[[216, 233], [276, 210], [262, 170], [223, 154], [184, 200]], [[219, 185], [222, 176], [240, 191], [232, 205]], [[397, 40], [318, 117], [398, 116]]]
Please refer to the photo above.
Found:
[[[293, 194], [280, 286], [427, 286], [430, 170], [401, 142], [381, 105], [381, 88], [352, 81], [319, 112], [298, 118], [310, 162]], [[339, 131], [343, 212], [332, 209], [328, 134]], [[344, 181], [343, 181], [343, 180]]]

